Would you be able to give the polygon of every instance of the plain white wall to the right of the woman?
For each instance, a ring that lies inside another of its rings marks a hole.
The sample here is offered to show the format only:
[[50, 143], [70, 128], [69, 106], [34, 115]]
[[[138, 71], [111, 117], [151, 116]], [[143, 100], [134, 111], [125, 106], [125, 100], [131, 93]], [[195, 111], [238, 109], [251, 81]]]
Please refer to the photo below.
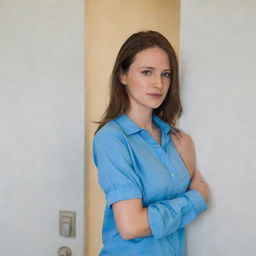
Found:
[[211, 190], [189, 256], [255, 255], [255, 14], [254, 0], [182, 1], [180, 126]]

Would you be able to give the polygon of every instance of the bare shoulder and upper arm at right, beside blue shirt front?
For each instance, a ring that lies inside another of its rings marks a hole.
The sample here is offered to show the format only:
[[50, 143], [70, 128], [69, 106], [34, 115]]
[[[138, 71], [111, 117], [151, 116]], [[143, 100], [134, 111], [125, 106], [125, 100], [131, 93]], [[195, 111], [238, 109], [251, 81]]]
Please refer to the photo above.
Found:
[[171, 134], [171, 138], [190, 173], [190, 177], [193, 178], [196, 169], [196, 153], [192, 138], [180, 130]]

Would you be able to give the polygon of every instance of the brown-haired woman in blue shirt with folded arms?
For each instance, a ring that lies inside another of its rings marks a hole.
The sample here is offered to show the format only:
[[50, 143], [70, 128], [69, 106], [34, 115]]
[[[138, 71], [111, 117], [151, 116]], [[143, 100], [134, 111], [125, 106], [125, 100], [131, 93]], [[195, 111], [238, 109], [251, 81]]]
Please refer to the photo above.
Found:
[[185, 226], [207, 208], [189, 135], [174, 127], [182, 107], [178, 65], [156, 31], [131, 35], [111, 79], [93, 140], [106, 196], [100, 255], [185, 255]]

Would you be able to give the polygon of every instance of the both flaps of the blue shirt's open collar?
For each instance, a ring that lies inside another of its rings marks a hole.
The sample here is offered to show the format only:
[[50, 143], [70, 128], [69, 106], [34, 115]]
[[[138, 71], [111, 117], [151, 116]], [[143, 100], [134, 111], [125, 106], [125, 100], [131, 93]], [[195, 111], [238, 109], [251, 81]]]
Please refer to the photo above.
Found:
[[[163, 121], [160, 117], [153, 114], [152, 115], [153, 122], [161, 129], [162, 132], [169, 133], [171, 130], [171, 126]], [[121, 114], [119, 117], [114, 119], [121, 128], [125, 131], [127, 135], [132, 135], [134, 133], [138, 133], [142, 129], [136, 123], [134, 123], [125, 113]]]

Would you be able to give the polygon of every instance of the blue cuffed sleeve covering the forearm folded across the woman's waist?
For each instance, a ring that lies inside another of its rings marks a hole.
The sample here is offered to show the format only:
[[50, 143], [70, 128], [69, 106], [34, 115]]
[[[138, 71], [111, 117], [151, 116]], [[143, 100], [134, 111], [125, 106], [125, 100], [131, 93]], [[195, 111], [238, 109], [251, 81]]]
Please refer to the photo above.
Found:
[[193, 221], [207, 209], [197, 190], [189, 190], [171, 200], [158, 201], [148, 206], [148, 221], [152, 235], [161, 239]]

